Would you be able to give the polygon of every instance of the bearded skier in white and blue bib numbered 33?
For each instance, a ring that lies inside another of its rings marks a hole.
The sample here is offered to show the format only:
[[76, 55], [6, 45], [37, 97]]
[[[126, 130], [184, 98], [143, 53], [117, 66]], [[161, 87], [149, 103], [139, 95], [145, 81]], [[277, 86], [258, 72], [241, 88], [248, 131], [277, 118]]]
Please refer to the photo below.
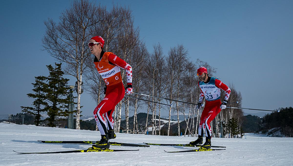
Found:
[[[207, 73], [207, 68], [200, 67], [197, 69], [197, 76], [200, 81], [198, 81], [198, 86], [200, 87], [200, 98], [197, 103], [197, 109], [200, 109], [202, 105], [202, 100], [205, 97], [206, 104], [202, 111], [200, 117], [200, 125], [198, 128], [198, 138], [195, 141], [191, 141], [189, 144], [196, 146], [203, 143], [203, 134], [206, 133], [205, 144], [203, 144], [201, 149], [211, 148], [211, 135], [212, 130], [210, 123], [211, 121], [220, 113], [222, 109], [226, 108], [230, 96], [230, 88], [222, 83], [218, 78], [209, 77]], [[221, 89], [226, 91], [225, 99], [223, 102], [220, 100]]]

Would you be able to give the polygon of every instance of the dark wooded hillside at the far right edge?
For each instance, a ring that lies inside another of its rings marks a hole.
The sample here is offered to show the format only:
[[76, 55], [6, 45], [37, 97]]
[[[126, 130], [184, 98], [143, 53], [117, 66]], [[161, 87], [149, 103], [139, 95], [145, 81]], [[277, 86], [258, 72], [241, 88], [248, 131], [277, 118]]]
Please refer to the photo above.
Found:
[[286, 137], [293, 137], [293, 108], [286, 107], [280, 109], [280, 112], [265, 115], [260, 131], [267, 132], [272, 128], [280, 128], [280, 132]]

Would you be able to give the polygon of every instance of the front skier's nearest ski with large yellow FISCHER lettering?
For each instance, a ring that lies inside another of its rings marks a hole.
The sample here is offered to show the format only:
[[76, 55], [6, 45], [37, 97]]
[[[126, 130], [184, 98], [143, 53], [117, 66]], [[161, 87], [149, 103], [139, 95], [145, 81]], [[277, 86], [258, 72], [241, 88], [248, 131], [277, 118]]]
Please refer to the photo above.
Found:
[[48, 154], [48, 153], [86, 153], [86, 152], [121, 152], [121, 151], [139, 151], [137, 150], [118, 150], [118, 149], [82, 149], [73, 151], [56, 151], [56, 152], [17, 152], [20, 154]]

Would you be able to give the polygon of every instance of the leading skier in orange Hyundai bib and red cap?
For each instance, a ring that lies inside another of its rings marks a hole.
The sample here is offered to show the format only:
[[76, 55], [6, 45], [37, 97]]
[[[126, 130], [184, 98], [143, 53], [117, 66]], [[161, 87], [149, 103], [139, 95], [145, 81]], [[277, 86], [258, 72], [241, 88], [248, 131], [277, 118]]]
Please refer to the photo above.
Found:
[[[112, 118], [115, 106], [123, 99], [125, 94], [132, 94], [132, 67], [114, 53], [105, 52], [103, 50], [104, 39], [101, 36], [92, 37], [88, 46], [91, 53], [95, 55], [95, 67], [105, 81], [105, 97], [93, 111], [93, 116], [101, 133], [101, 140], [94, 144], [92, 148], [108, 149], [110, 147], [109, 139], [116, 138]], [[126, 70], [127, 86], [125, 90], [120, 68]]]

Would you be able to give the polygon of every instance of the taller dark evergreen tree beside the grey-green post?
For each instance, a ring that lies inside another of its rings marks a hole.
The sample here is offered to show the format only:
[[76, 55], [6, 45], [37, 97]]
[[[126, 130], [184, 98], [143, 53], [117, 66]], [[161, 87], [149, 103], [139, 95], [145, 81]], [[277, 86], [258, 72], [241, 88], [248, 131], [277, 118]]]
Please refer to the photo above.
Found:
[[56, 127], [54, 121], [58, 116], [68, 116], [66, 112], [67, 105], [69, 103], [68, 91], [70, 88], [64, 86], [69, 79], [63, 78], [64, 72], [61, 70], [61, 63], [55, 63], [55, 67], [47, 65], [50, 75], [47, 77], [48, 88], [45, 90], [46, 98], [49, 103], [47, 106], [48, 126]]

